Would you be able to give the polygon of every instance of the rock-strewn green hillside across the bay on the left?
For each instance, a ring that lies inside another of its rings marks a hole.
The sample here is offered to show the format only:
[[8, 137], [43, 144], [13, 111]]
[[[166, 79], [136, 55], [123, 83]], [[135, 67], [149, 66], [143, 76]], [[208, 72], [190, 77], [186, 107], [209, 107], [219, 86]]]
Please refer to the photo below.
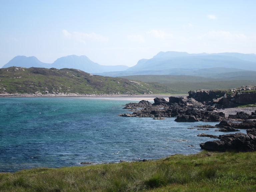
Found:
[[92, 75], [77, 69], [9, 67], [0, 69], [0, 94], [159, 94], [176, 93], [159, 83]]

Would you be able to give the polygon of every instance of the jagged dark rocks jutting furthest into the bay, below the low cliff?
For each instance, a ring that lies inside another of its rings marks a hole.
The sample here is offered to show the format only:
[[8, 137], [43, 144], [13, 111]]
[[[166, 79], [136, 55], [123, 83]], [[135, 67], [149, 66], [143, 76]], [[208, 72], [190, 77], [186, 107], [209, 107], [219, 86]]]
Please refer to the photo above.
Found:
[[206, 106], [187, 97], [169, 97], [169, 102], [164, 98], [157, 97], [153, 104], [143, 100], [139, 103], [128, 103], [124, 109], [133, 109], [134, 112], [132, 114], [120, 114], [120, 116], [177, 117], [177, 122], [221, 121], [225, 119], [225, 114], [216, 111], [215, 107]]

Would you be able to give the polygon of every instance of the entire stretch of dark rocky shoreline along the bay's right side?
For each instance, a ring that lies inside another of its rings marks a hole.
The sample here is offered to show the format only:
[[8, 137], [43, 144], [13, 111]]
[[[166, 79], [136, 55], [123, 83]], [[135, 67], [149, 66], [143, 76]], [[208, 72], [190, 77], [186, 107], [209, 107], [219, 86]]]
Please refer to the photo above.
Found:
[[[247, 87], [248, 88], [248, 87]], [[256, 88], [256, 87], [253, 87]], [[235, 133], [220, 136], [199, 134], [198, 136], [208, 136], [218, 138], [219, 140], [201, 143], [200, 147], [205, 150], [214, 151], [255, 151], [256, 150], [256, 107], [231, 108], [230, 103], [225, 106], [225, 102], [215, 97], [205, 97], [207, 93], [200, 92], [204, 97], [169, 97], [169, 101], [161, 97], [156, 97], [154, 103], [142, 100], [139, 103], [127, 103], [124, 109], [129, 109], [132, 113], [119, 114], [123, 117], [152, 117], [154, 119], [165, 119], [165, 117], [176, 117], [177, 122], [220, 122], [214, 127], [219, 131], [231, 132], [239, 129], [247, 129], [247, 134]], [[212, 95], [220, 93], [211, 92]], [[245, 92], [248, 95], [248, 92]], [[254, 94], [254, 93], [253, 93]], [[242, 94], [239, 94], [239, 97]], [[221, 96], [222, 98], [225, 97]], [[242, 97], [245, 98], [245, 97]], [[254, 103], [251, 95], [249, 102]], [[240, 103], [248, 103], [245, 100], [239, 100]], [[233, 123], [237, 121], [237, 123]], [[241, 122], [238, 122], [241, 121]], [[207, 127], [207, 125], [205, 125]], [[204, 129], [203, 127], [201, 128]]]

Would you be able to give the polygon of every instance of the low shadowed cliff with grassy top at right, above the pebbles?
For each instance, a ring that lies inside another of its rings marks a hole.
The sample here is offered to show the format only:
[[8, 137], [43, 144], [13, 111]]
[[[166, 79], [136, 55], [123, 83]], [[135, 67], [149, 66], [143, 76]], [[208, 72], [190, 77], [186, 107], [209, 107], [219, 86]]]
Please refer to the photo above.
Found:
[[243, 86], [227, 91], [196, 90], [189, 91], [189, 98], [205, 104], [218, 104], [223, 107], [247, 105], [256, 103], [256, 86]]

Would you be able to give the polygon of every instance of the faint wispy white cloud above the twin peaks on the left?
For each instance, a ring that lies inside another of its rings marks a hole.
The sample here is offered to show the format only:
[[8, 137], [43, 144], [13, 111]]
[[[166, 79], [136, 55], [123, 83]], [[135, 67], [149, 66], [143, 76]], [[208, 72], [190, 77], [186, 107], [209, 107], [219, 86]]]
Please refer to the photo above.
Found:
[[81, 33], [81, 32], [72, 32], [69, 33], [67, 30], [62, 30], [62, 35], [65, 38], [73, 39], [75, 41], [86, 43], [87, 41], [98, 41], [101, 43], [107, 43], [109, 39], [100, 34], [96, 33]]

